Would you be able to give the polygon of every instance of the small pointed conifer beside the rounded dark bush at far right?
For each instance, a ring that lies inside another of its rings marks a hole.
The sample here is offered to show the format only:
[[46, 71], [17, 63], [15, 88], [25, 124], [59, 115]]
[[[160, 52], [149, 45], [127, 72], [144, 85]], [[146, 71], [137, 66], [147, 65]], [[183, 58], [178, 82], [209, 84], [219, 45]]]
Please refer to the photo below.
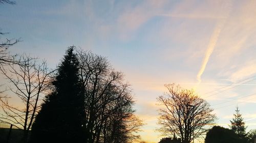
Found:
[[236, 113], [233, 114], [234, 118], [232, 119], [232, 121], [230, 120], [231, 123], [231, 130], [233, 130], [236, 134], [239, 135], [239, 137], [245, 137], [246, 136], [246, 126], [245, 126], [245, 122], [244, 119], [242, 118], [242, 115], [240, 113], [240, 110], [236, 109]]

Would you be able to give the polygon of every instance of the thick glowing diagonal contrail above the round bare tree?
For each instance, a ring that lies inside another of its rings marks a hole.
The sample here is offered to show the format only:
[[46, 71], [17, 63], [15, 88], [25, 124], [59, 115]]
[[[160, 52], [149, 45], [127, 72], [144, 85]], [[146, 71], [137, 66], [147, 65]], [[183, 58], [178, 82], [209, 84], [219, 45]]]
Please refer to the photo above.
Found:
[[220, 19], [217, 24], [216, 24], [216, 27], [214, 29], [214, 32], [212, 33], [211, 37], [210, 37], [210, 41], [209, 41], [209, 44], [207, 46], [207, 50], [205, 52], [205, 55], [204, 55], [204, 59], [202, 61], [202, 65], [201, 65], [201, 68], [197, 74], [197, 80], [198, 80], [198, 84], [201, 83], [201, 75], [203, 74], [204, 70], [205, 70], [205, 67], [209, 61], [209, 58], [210, 58], [210, 55], [211, 53], [214, 51], [214, 48], [216, 46], [216, 43], [218, 41], [218, 38], [219, 38], [219, 35], [221, 33], [221, 30], [223, 28], [223, 26], [225, 25], [226, 23], [226, 20], [229, 16], [229, 13], [231, 11], [231, 2], [228, 1], [226, 3], [226, 5], [223, 7], [223, 9], [226, 9], [227, 12], [226, 14], [223, 16], [222, 19]]

